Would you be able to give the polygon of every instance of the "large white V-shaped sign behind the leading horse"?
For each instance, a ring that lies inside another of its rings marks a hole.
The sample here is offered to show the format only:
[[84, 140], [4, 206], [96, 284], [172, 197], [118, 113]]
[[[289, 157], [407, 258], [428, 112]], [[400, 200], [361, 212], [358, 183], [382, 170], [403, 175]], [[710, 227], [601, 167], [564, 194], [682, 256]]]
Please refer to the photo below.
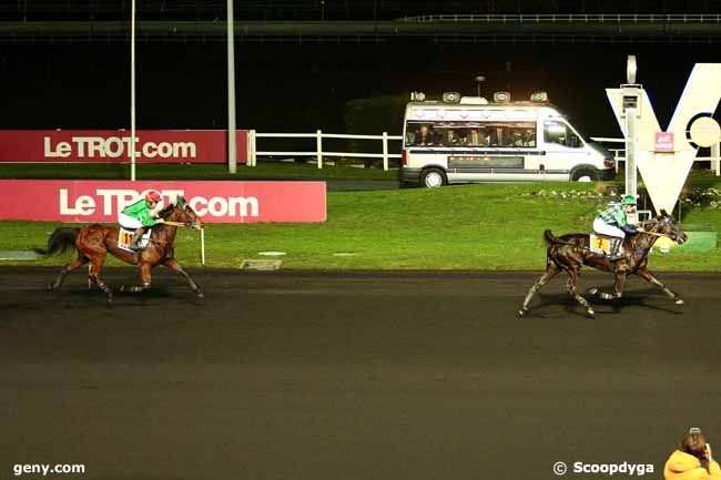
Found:
[[[616, 120], [626, 136], [620, 89], [607, 89]], [[673, 152], [654, 152], [659, 122], [646, 90], [641, 90], [638, 120], [637, 165], [657, 212], [673, 211], [683, 183], [689, 175], [698, 147], [687, 134], [690, 123], [700, 114], [711, 116], [721, 99], [721, 63], [697, 63], [691, 71], [667, 132], [673, 133]]]

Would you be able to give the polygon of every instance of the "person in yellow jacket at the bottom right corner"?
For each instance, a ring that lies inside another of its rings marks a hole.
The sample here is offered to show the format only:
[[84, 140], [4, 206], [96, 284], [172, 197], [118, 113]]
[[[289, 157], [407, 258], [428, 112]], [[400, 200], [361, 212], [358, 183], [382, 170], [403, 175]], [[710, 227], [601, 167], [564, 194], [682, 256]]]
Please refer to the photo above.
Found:
[[711, 456], [711, 446], [698, 428], [682, 439], [663, 467], [666, 480], [721, 480], [721, 468]]

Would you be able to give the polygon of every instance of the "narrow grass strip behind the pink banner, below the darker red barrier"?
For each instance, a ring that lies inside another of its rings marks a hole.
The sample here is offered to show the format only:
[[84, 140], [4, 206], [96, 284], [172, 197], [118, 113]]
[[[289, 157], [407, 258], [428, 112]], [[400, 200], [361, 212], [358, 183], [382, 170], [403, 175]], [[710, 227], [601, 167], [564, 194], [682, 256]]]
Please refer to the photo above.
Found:
[[[227, 166], [215, 164], [138, 164], [138, 180], [395, 180], [398, 172], [380, 168], [356, 168], [351, 166], [324, 166], [318, 168], [307, 163], [258, 163], [255, 167], [238, 165], [235, 174], [227, 173]], [[98, 164], [47, 164], [4, 163], [0, 164], [0, 178], [48, 178], [48, 180], [129, 180], [130, 165]]]

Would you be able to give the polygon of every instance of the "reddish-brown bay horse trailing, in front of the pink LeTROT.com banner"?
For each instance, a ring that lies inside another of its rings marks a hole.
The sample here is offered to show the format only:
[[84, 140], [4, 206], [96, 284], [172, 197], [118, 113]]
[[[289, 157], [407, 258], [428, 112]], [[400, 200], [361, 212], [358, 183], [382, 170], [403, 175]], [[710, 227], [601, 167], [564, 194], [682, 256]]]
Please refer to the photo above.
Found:
[[[158, 216], [166, 222], [173, 222], [194, 228], [202, 227], [202, 222], [195, 212], [193, 212], [193, 208], [185, 204], [185, 201], [182, 197], [179, 197], [176, 203], [170, 204], [159, 212]], [[103, 290], [105, 295], [108, 295], [108, 302], [112, 303], [113, 292], [102, 279], [100, 279], [100, 269], [105, 262], [105, 256], [110, 253], [123, 262], [131, 265], [138, 265], [140, 268], [142, 285], [130, 287], [121, 286], [121, 292], [146, 290], [150, 288], [151, 270], [159, 265], [163, 265], [164, 267], [184, 276], [191, 289], [199, 298], [203, 298], [203, 294], [197, 285], [195, 285], [195, 282], [193, 282], [190, 275], [180, 267], [177, 261], [174, 258], [175, 247], [173, 242], [175, 241], [176, 232], [177, 225], [158, 224], [153, 226], [150, 242], [145, 248], [140, 252], [128, 252], [118, 247], [119, 232], [118, 227], [114, 225], [110, 226], [94, 223], [83, 228], [61, 227], [55, 228], [55, 231], [50, 235], [47, 248], [37, 248], [35, 252], [41, 255], [50, 256], [72, 248], [78, 251], [78, 258], [62, 267], [55, 282], [48, 286], [49, 292], [57, 292], [70, 272], [90, 262], [90, 273], [88, 274], [88, 277], [94, 285]]]

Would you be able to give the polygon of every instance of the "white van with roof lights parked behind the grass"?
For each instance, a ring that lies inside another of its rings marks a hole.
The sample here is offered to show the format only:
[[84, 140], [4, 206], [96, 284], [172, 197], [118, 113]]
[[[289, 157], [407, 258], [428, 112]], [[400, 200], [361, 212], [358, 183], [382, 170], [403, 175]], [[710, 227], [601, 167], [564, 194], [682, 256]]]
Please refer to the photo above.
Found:
[[612, 155], [589, 143], [545, 92], [530, 102], [494, 102], [445, 93], [444, 101], [412, 94], [403, 131], [400, 181], [435, 187], [449, 183], [610, 180]]

